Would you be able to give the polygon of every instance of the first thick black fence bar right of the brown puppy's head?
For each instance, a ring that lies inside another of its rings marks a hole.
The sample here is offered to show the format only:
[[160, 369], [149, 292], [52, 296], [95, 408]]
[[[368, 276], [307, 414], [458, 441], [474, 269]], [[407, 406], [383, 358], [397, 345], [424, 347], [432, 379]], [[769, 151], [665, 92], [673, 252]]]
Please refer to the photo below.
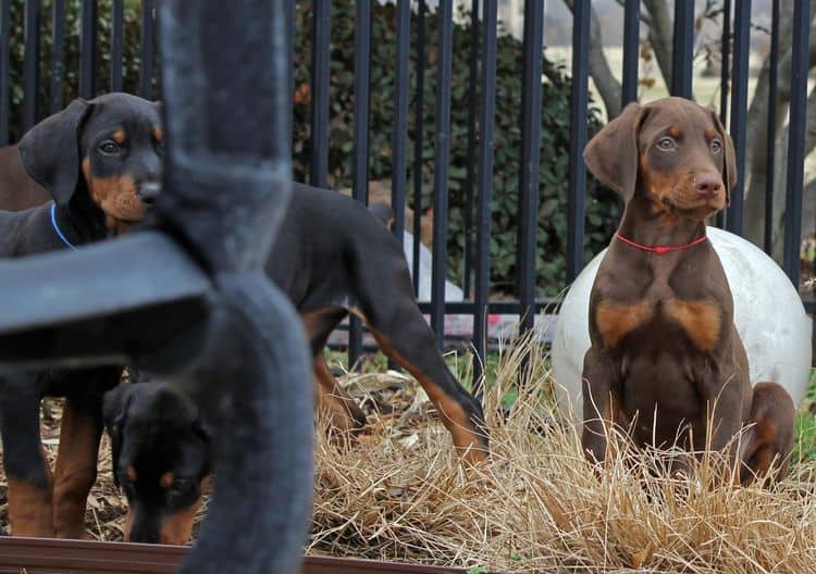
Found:
[[[751, 52], [751, 0], [734, 7], [733, 70], [731, 73], [731, 139], [737, 153], [737, 173], [745, 173], [745, 115], [747, 114], [747, 75]], [[737, 178], [728, 207], [728, 230], [742, 235], [745, 177]]]

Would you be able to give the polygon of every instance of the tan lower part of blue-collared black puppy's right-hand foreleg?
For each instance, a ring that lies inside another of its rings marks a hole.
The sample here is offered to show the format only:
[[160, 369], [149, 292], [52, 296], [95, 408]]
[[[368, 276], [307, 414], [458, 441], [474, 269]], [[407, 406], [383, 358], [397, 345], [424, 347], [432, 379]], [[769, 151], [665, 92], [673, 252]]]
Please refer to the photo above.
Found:
[[65, 402], [53, 487], [53, 524], [59, 538], [85, 537], [85, 506], [97, 477], [101, 429]]

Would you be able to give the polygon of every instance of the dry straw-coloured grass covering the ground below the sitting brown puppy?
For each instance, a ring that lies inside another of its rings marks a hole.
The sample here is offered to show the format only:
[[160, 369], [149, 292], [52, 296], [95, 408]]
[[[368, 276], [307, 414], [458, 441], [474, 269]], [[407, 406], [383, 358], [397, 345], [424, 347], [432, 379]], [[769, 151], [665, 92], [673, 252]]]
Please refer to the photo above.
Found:
[[[532, 375], [507, 413], [528, 353]], [[492, 460], [474, 470], [420, 401], [373, 416], [359, 441], [319, 433], [309, 552], [506, 572], [816, 572], [816, 467], [794, 466], [774, 491], [743, 488], [716, 453], [678, 477], [660, 471], [665, 452], [610, 437], [622, 456], [593, 470], [547, 405], [545, 359], [530, 340], [503, 353], [486, 396]], [[353, 394], [357, 380], [346, 377]]]

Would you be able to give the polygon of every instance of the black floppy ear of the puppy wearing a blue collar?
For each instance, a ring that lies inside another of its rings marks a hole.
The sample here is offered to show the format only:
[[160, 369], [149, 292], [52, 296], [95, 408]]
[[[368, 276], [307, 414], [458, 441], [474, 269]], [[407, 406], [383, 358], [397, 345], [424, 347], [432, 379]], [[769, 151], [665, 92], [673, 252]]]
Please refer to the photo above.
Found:
[[67, 205], [79, 178], [79, 134], [92, 104], [71, 104], [30, 128], [20, 140], [20, 157], [28, 175], [48, 189], [60, 205]]

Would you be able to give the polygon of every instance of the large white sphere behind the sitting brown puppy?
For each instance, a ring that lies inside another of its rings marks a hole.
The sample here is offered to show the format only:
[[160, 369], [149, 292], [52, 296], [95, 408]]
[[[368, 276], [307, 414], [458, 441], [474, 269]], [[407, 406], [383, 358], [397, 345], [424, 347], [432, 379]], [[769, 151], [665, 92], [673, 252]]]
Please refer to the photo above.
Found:
[[[813, 321], [796, 289], [776, 262], [738, 235], [708, 227], [708, 238], [726, 270], [734, 303], [734, 323], [749, 357], [751, 383], [775, 380], [799, 405], [811, 370]], [[570, 287], [558, 313], [551, 358], [561, 413], [583, 416], [581, 373], [590, 348], [590, 291], [606, 250]]]

